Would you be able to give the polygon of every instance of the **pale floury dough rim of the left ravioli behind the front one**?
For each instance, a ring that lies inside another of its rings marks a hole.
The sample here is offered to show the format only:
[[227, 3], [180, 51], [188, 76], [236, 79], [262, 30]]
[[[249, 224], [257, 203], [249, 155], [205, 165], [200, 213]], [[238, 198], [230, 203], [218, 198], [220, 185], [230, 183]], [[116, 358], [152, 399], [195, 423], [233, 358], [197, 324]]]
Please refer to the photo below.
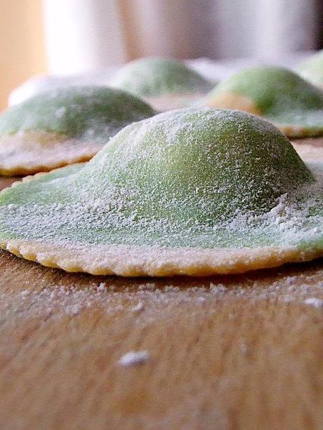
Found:
[[[57, 133], [29, 130], [1, 137], [0, 149], [1, 147], [4, 150], [0, 157], [0, 175], [20, 176], [89, 161], [103, 145], [96, 142], [78, 142]], [[10, 154], [12, 150], [17, 154]], [[22, 159], [23, 154], [26, 154], [26, 159], [27, 154], [35, 156], [27, 161]]]

